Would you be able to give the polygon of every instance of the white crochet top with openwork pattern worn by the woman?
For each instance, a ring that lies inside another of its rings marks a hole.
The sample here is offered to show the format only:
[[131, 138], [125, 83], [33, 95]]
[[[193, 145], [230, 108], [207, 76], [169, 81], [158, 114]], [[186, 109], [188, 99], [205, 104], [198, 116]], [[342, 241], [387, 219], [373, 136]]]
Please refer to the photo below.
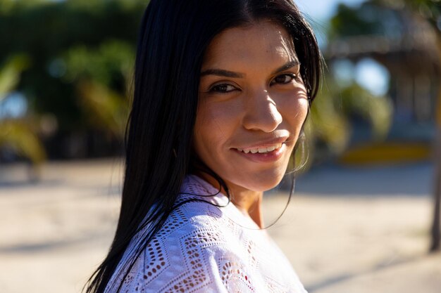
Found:
[[[266, 230], [212, 185], [187, 176], [178, 202], [197, 198], [211, 203], [187, 202], [172, 211], [135, 261], [120, 292], [306, 293]], [[142, 232], [130, 243], [106, 293], [117, 292], [140, 236]]]

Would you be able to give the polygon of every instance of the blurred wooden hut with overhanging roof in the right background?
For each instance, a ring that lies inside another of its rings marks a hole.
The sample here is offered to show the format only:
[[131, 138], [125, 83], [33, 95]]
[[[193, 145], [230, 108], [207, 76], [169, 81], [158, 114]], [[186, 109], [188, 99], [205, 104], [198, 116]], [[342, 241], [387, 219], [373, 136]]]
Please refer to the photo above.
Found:
[[[403, 12], [404, 14], [404, 12]], [[402, 33], [347, 37], [329, 44], [327, 60], [373, 58], [390, 72], [395, 124], [434, 124], [441, 80], [437, 36], [418, 15], [402, 15]]]

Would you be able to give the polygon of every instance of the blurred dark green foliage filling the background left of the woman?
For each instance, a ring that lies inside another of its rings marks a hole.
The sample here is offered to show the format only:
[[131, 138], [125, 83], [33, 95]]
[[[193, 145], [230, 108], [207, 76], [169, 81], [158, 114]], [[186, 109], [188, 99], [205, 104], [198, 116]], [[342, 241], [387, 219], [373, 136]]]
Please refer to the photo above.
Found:
[[[137, 32], [147, 4], [0, 0], [0, 96], [23, 93], [32, 113], [32, 118], [0, 121], [0, 148], [7, 145], [38, 164], [45, 155], [37, 134], [99, 130], [121, 139]], [[20, 56], [6, 58], [16, 52]], [[44, 117], [53, 117], [56, 132], [40, 129]]]

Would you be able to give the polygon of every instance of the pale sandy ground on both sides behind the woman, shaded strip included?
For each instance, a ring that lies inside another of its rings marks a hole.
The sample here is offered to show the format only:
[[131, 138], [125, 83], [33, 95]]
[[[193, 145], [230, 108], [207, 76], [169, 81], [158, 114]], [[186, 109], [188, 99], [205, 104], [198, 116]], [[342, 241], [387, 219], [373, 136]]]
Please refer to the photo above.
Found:
[[[310, 293], [440, 293], [441, 254], [427, 253], [432, 171], [314, 169], [268, 232]], [[0, 292], [80, 292], [111, 242], [121, 173], [118, 159], [55, 162], [28, 183], [25, 166], [0, 166]], [[286, 201], [266, 197], [266, 223]]]

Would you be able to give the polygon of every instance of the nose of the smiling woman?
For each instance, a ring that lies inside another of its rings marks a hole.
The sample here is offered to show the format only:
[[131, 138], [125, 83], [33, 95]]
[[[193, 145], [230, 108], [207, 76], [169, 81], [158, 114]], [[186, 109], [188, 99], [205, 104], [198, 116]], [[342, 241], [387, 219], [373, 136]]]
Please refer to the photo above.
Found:
[[272, 132], [282, 123], [282, 115], [268, 91], [254, 93], [244, 103], [242, 125], [245, 129]]

